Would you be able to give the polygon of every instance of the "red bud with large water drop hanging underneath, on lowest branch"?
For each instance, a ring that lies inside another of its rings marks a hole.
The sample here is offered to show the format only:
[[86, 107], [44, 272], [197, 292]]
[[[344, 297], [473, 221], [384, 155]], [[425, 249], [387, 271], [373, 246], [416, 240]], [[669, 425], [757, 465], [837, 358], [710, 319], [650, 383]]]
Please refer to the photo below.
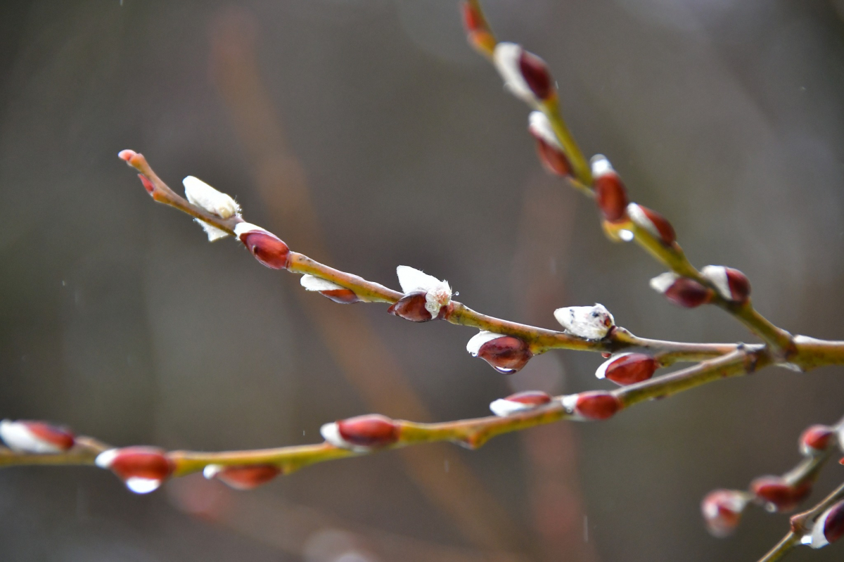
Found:
[[165, 451], [156, 447], [125, 447], [101, 452], [95, 463], [115, 473], [135, 494], [149, 494], [163, 483], [175, 468]]

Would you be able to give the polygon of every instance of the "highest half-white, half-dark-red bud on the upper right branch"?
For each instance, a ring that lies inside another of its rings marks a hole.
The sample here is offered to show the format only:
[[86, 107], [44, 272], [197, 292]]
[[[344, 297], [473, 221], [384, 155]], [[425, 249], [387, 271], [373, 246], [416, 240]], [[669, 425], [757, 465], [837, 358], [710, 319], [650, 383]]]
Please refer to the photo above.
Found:
[[501, 42], [495, 46], [493, 62], [512, 95], [535, 105], [556, 95], [554, 80], [544, 60], [521, 45]]

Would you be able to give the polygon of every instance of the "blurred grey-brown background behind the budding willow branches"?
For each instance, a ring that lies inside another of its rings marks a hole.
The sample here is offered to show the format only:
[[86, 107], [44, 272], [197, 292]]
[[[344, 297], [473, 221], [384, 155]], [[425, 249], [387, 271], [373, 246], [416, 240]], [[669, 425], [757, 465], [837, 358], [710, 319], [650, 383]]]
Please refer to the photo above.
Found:
[[[484, 6], [549, 62], [584, 151], [674, 222], [695, 264], [743, 270], [792, 332], [844, 337], [844, 2]], [[223, 450], [315, 442], [359, 413], [461, 419], [514, 390], [609, 387], [597, 354], [508, 378], [466, 353], [473, 330], [306, 295], [151, 203], [120, 149], [394, 288], [405, 264], [519, 322], [601, 302], [644, 337], [753, 341], [656, 295], [661, 268], [544, 174], [527, 108], [467, 46], [456, 0], [5, 0], [0, 77], [0, 418]], [[769, 369], [602, 424], [329, 462], [248, 493], [194, 476], [137, 496], [90, 467], [9, 468], [0, 559], [755, 560], [787, 518], [749, 509], [718, 540], [699, 502], [792, 467], [800, 431], [844, 413], [842, 375]], [[831, 463], [810, 501], [842, 478]]]

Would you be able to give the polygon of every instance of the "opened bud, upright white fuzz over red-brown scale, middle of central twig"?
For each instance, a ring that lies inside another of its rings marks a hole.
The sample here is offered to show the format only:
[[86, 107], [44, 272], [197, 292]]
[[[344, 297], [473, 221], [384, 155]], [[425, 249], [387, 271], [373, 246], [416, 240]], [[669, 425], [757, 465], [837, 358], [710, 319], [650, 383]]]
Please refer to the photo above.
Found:
[[404, 296], [387, 312], [411, 322], [428, 322], [446, 315], [452, 302], [452, 288], [448, 282], [414, 267], [398, 266], [396, 273]]

